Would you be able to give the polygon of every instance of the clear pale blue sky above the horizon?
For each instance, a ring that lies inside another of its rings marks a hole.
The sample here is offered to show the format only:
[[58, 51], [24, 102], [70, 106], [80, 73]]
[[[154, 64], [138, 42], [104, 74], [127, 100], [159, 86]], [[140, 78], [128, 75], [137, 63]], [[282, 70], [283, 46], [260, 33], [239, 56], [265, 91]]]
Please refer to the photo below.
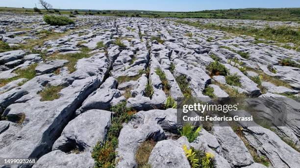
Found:
[[[58, 9], [199, 11], [230, 8], [300, 7], [300, 0], [47, 0]], [[38, 0], [0, 0], [0, 6], [34, 7]]]

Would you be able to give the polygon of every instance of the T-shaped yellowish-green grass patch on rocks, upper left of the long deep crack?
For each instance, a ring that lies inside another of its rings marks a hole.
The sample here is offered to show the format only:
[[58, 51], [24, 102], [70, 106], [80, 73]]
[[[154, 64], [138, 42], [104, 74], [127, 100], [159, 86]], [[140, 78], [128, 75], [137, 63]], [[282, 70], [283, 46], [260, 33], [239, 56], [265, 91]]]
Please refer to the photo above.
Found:
[[66, 66], [68, 67], [68, 70], [70, 73], [75, 72], [76, 68], [75, 65], [78, 60], [83, 58], [89, 58], [91, 54], [89, 54], [90, 49], [88, 47], [82, 47], [80, 49], [81, 52], [78, 53], [70, 53], [70, 54], [58, 54], [58, 55], [52, 55], [48, 57], [49, 60], [59, 59], [59, 60], [68, 60], [69, 63], [66, 63]]

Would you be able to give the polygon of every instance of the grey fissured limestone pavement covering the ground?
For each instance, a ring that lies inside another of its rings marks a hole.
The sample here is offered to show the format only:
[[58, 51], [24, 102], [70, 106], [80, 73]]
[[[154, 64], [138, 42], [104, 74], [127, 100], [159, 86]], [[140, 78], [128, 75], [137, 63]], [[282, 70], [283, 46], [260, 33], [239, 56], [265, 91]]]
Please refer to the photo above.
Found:
[[[216, 168], [265, 168], [263, 162], [269, 168], [300, 167], [297, 102], [286, 126], [213, 126], [192, 143], [178, 139], [176, 109], [165, 109], [167, 97], [207, 97], [207, 87], [216, 97], [297, 100], [300, 52], [165, 19], [75, 20], [75, 25], [50, 26], [42, 16], [0, 14], [0, 36], [10, 46], [0, 53], [0, 158], [38, 158], [33, 168], [92, 168], [91, 151], [105, 140], [115, 115], [110, 107], [126, 102], [137, 113], [118, 137], [117, 168], [137, 168], [135, 153], [149, 139], [157, 142], [151, 168], [190, 168], [183, 144], [213, 153]], [[278, 63], [287, 58], [298, 67]], [[206, 67], [214, 60], [241, 84], [212, 75]], [[45, 98], [47, 89], [58, 94]]]

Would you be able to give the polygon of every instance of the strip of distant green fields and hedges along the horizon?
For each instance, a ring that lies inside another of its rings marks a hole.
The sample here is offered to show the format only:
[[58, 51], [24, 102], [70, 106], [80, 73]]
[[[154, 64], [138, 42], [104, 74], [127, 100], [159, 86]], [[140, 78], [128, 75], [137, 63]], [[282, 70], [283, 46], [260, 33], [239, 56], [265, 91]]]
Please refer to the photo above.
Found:
[[[34, 13], [29, 8], [0, 7], [0, 12], [25, 12]], [[54, 10], [51, 10], [54, 12]], [[59, 9], [61, 14], [70, 14], [68, 9]], [[127, 16], [127, 17], [150, 17], [150, 18], [214, 18], [214, 19], [249, 19], [264, 21], [296, 21], [300, 23], [300, 8], [246, 8], [246, 9], [225, 9], [205, 10], [195, 12], [160, 12], [141, 10], [79, 10], [80, 15], [103, 15], [103, 16]], [[46, 13], [42, 10], [42, 13]]]

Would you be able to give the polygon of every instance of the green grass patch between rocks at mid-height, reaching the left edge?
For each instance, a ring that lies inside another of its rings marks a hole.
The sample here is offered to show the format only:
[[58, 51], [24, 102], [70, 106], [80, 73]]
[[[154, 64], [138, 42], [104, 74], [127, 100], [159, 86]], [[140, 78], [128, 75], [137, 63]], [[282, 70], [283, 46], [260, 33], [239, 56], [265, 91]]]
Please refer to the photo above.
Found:
[[20, 78], [26, 78], [27, 80], [34, 78], [36, 75], [36, 71], [35, 71], [36, 66], [37, 66], [37, 63], [34, 63], [34, 64], [29, 65], [26, 68], [19, 68], [19, 69], [13, 71], [14, 73], [17, 74], [17, 76], [8, 78], [8, 79], [0, 79], [0, 86], [4, 86], [5, 84], [8, 84], [8, 83], [15, 81], [17, 79], [20, 79]]

